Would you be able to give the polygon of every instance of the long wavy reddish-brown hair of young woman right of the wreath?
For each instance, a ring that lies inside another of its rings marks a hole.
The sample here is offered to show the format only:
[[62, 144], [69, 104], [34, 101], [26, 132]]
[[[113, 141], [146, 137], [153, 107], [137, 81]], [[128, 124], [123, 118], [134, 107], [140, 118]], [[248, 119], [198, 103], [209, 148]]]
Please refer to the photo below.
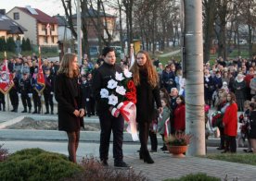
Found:
[[[146, 61], [146, 64], [144, 65], [144, 68], [147, 70], [147, 79], [148, 79], [147, 81], [148, 81], [148, 84], [150, 86], [155, 88], [156, 86], [158, 86], [159, 76], [158, 76], [158, 73], [156, 71], [156, 68], [152, 64], [152, 61], [149, 57], [149, 54], [146, 51], [143, 51], [143, 50], [139, 51], [137, 54], [145, 54], [146, 55], [147, 61]], [[134, 84], [135, 84], [135, 86], [140, 84], [139, 68], [140, 67], [137, 64], [137, 61], [135, 60], [134, 65], [131, 68], [131, 71], [133, 72], [133, 75], [134, 75]]]

